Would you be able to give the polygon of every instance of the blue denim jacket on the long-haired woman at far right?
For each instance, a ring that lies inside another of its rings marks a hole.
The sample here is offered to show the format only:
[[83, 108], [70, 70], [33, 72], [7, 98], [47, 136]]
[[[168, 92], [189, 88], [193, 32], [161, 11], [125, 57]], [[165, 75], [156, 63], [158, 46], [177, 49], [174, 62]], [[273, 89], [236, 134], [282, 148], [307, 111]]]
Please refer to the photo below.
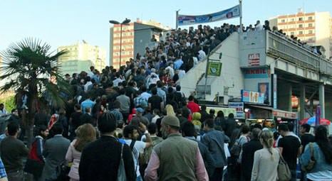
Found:
[[319, 172], [323, 170], [332, 171], [332, 164], [326, 163], [325, 156], [323, 155], [323, 152], [321, 151], [321, 148], [319, 148], [317, 143], [308, 143], [308, 145], [306, 145], [304, 153], [301, 155], [301, 160], [300, 160], [301, 164], [303, 166], [308, 165], [308, 162], [311, 158], [310, 147], [309, 147], [310, 144], [313, 144], [313, 157], [315, 158], [316, 163], [313, 166], [313, 169], [310, 170], [309, 172]]

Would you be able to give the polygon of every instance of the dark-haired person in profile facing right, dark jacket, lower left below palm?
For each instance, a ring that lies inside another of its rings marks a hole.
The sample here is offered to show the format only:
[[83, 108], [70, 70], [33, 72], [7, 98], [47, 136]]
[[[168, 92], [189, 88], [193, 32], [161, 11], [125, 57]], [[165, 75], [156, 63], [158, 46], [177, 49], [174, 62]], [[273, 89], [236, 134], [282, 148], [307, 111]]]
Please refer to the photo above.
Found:
[[45, 160], [43, 158], [43, 144], [48, 136], [48, 128], [45, 125], [35, 127], [35, 140], [31, 144], [28, 159], [26, 160], [25, 172], [33, 175], [33, 180], [41, 180], [41, 173], [43, 172], [43, 165]]

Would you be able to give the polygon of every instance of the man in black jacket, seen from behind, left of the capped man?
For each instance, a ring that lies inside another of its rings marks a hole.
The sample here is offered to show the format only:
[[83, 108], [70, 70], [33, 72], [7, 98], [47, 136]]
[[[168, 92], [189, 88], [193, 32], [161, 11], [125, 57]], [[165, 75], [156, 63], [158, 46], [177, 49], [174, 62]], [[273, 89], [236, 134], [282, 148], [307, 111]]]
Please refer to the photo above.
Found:
[[78, 173], [81, 181], [117, 180], [123, 148], [123, 163], [127, 180], [136, 180], [133, 155], [128, 145], [122, 145], [114, 137], [116, 120], [106, 112], [98, 119], [101, 137], [82, 151]]

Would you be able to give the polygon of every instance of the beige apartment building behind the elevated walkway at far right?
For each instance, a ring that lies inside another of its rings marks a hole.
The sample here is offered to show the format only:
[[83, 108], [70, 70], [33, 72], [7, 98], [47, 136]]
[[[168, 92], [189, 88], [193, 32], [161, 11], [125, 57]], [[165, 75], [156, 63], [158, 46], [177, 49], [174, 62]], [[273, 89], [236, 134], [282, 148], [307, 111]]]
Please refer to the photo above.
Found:
[[286, 35], [294, 35], [308, 45], [321, 45], [327, 58], [332, 55], [332, 19], [329, 12], [281, 15], [270, 19], [270, 26], [282, 29]]

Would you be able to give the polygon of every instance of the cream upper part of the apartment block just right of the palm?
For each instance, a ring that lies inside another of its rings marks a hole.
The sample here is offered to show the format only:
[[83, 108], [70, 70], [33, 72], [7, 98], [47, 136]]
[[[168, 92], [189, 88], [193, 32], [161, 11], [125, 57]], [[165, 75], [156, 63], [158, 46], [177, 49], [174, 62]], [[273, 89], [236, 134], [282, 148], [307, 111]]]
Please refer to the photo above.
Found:
[[[85, 40], [78, 41], [73, 45], [61, 46], [58, 48], [58, 52], [61, 50], [67, 50], [68, 53], [67, 55], [63, 55], [59, 58], [60, 62], [71, 60], [90, 60], [92, 65], [95, 66], [95, 69], [100, 72], [106, 66], [106, 51], [98, 46], [88, 44]], [[87, 65], [85, 63], [83, 64]]]

